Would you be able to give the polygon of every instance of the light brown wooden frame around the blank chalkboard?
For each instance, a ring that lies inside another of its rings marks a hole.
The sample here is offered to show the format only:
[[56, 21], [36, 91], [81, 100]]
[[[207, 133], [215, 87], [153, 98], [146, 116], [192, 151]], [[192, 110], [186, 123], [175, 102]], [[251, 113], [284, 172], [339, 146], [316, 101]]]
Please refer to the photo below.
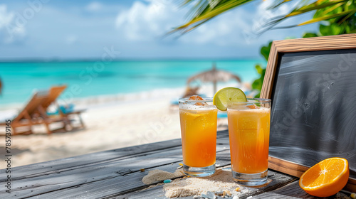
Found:
[[[315, 38], [298, 38], [283, 41], [273, 41], [271, 53], [268, 57], [266, 75], [263, 80], [261, 98], [271, 99], [273, 83], [278, 68], [278, 57], [281, 53], [298, 53], [318, 50], [342, 50], [356, 48], [356, 34], [345, 34], [340, 36], [323, 36]], [[300, 177], [309, 167], [269, 156], [268, 167]], [[347, 190], [356, 192], [356, 179], [349, 178], [345, 187]]]

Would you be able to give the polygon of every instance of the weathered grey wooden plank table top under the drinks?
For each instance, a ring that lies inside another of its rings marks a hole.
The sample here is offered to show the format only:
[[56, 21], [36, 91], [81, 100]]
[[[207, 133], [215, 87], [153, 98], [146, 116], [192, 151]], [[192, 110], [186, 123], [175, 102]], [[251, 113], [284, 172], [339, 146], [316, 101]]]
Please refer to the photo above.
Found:
[[[217, 137], [216, 164], [229, 166], [228, 131]], [[5, 192], [7, 173], [2, 169], [0, 198], [165, 198], [163, 185], [148, 188], [141, 180], [153, 169], [174, 172], [179, 163], [180, 139], [102, 151], [11, 168], [11, 193]], [[268, 178], [271, 183], [248, 188], [239, 198], [313, 198], [299, 187], [298, 178], [271, 170]]]

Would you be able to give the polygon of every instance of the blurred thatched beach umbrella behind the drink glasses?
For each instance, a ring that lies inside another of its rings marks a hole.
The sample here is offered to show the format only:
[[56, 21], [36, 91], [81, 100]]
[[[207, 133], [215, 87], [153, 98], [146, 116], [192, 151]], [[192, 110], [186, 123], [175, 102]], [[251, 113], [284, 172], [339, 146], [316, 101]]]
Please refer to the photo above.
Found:
[[213, 82], [214, 93], [216, 93], [217, 82], [228, 82], [229, 80], [236, 80], [237, 82], [241, 82], [240, 77], [234, 75], [231, 72], [225, 70], [216, 70], [215, 63], [213, 63], [213, 68], [211, 70], [204, 71], [190, 77], [187, 80], [187, 85], [189, 85], [191, 82], [195, 80], [200, 80], [201, 82]]

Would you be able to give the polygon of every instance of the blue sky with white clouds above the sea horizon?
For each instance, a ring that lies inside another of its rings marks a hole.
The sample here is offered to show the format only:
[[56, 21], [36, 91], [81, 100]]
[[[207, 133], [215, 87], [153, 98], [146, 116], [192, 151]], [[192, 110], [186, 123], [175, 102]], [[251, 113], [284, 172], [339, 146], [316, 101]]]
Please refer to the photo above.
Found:
[[[229, 11], [184, 36], [164, 33], [184, 21], [189, 8], [173, 0], [68, 1], [28, 0], [0, 2], [0, 60], [95, 59], [104, 48], [120, 51], [121, 59], [261, 58], [259, 48], [271, 40], [300, 38], [317, 31], [317, 24], [250, 32], [268, 16], [272, 0], [256, 1]], [[284, 25], [310, 18], [291, 18]], [[283, 24], [282, 24], [283, 25]]]

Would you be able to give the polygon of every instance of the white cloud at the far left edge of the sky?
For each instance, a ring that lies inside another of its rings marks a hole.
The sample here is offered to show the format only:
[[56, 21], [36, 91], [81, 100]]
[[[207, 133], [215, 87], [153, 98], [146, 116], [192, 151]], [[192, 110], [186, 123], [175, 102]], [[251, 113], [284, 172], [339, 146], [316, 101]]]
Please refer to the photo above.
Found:
[[[26, 19], [25, 19], [26, 20]], [[7, 11], [6, 5], [0, 5], [0, 35], [1, 43], [14, 43], [26, 36], [24, 18], [15, 12]]]

